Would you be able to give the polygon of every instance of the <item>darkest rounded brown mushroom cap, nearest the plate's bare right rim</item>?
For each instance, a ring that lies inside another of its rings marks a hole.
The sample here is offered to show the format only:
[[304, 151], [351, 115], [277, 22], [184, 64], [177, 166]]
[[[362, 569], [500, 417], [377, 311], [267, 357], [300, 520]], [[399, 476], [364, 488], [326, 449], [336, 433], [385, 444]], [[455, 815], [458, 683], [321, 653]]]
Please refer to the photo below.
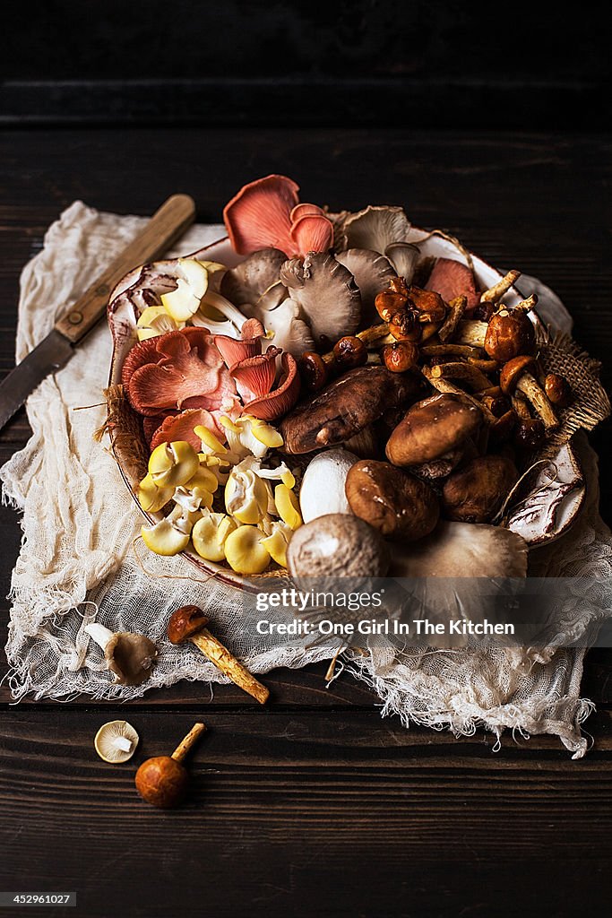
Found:
[[460, 522], [493, 520], [517, 477], [516, 466], [506, 456], [477, 456], [444, 482], [442, 507], [446, 517]]

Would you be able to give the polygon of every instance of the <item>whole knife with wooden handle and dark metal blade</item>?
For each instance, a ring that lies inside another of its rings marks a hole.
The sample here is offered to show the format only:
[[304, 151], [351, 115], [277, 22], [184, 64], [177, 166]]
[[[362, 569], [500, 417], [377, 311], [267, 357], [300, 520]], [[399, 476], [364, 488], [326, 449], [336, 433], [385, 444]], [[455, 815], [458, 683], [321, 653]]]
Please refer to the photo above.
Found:
[[74, 348], [106, 314], [108, 295], [132, 268], [166, 252], [195, 220], [188, 195], [172, 195], [128, 247], [109, 264], [53, 330], [0, 384], [0, 430], [42, 380], [68, 363]]

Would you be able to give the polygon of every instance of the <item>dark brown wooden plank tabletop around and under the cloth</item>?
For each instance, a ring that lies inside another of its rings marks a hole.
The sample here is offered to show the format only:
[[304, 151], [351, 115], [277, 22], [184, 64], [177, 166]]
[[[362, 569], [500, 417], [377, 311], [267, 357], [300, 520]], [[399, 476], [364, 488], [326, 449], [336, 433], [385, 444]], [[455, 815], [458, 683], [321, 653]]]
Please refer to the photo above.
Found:
[[[610, 311], [610, 140], [561, 134], [410, 131], [21, 130], [0, 136], [0, 369], [13, 363], [18, 274], [76, 197], [150, 213], [175, 191], [216, 221], [244, 181], [291, 174], [331, 207], [401, 203], [502, 267], [556, 289], [576, 336], [606, 360]], [[612, 364], [604, 378], [609, 387]], [[27, 440], [21, 412], [0, 461]], [[593, 438], [609, 453], [610, 427]], [[603, 510], [612, 490], [603, 476]], [[2, 593], [17, 515], [0, 509]], [[7, 603], [2, 608], [6, 626]], [[4, 643], [4, 641], [3, 641]], [[142, 704], [23, 703], [0, 714], [0, 888], [77, 890], [88, 916], [573, 916], [609, 913], [612, 662], [588, 658], [595, 746], [572, 762], [534, 737], [492, 752], [490, 736], [404, 730], [325, 666], [267, 677], [265, 710], [237, 689], [188, 684]], [[156, 812], [134, 767], [106, 766], [98, 726], [127, 717], [142, 758], [171, 751], [197, 719], [183, 809]], [[39, 912], [43, 913], [43, 912]], [[65, 913], [45, 910], [45, 914]], [[78, 911], [75, 913], [79, 913]]]

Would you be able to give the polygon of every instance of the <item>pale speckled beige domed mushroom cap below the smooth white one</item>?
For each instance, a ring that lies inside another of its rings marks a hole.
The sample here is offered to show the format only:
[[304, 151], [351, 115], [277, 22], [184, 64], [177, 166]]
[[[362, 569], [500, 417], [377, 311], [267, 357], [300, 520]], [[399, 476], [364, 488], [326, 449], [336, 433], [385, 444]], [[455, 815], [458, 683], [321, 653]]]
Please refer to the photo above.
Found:
[[289, 573], [298, 585], [307, 585], [312, 577], [353, 577], [360, 582], [384, 577], [389, 558], [389, 546], [373, 526], [346, 513], [306, 522], [287, 548]]

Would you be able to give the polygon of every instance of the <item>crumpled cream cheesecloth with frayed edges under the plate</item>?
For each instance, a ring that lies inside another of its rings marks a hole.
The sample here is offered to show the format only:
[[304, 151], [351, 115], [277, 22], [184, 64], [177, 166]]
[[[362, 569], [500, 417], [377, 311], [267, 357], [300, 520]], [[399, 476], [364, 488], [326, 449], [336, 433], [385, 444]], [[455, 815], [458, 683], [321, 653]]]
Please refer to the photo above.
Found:
[[[80, 201], [61, 214], [21, 276], [17, 361], [144, 222], [100, 213]], [[172, 254], [194, 252], [223, 234], [222, 227], [195, 226]], [[571, 319], [561, 302], [533, 283], [543, 318], [569, 331]], [[20, 511], [23, 530], [6, 644], [13, 698], [71, 700], [84, 693], [95, 700], [131, 700], [180, 679], [227, 681], [191, 645], [167, 642], [169, 610], [186, 603], [210, 610], [218, 637], [255, 673], [333, 656], [337, 644], [307, 647], [296, 639], [255, 635], [239, 590], [196, 582], [195, 569], [180, 557], [158, 558], [140, 546], [137, 559], [139, 513], [114, 459], [95, 442], [105, 418], [106, 406], [99, 403], [110, 356], [103, 322], [72, 361], [28, 398], [32, 436], [0, 470], [3, 499]], [[92, 405], [98, 407], [84, 409]], [[540, 577], [612, 573], [612, 540], [597, 513], [595, 454], [584, 445], [582, 458], [589, 484], [585, 509], [561, 541], [533, 553], [533, 572]], [[99, 648], [83, 632], [90, 621], [150, 636], [161, 653], [147, 683], [138, 688], [112, 683]], [[583, 656], [584, 651], [559, 649], [546, 662], [547, 655], [517, 660], [516, 653], [501, 649], [410, 654], [379, 646], [371, 655], [345, 655], [344, 664], [373, 687], [382, 713], [399, 715], [406, 726], [417, 722], [470, 735], [484, 725], [498, 738], [506, 728], [522, 735], [554, 733], [577, 758], [587, 748], [580, 724], [593, 709], [580, 698]], [[203, 700], [208, 699], [204, 689]]]

